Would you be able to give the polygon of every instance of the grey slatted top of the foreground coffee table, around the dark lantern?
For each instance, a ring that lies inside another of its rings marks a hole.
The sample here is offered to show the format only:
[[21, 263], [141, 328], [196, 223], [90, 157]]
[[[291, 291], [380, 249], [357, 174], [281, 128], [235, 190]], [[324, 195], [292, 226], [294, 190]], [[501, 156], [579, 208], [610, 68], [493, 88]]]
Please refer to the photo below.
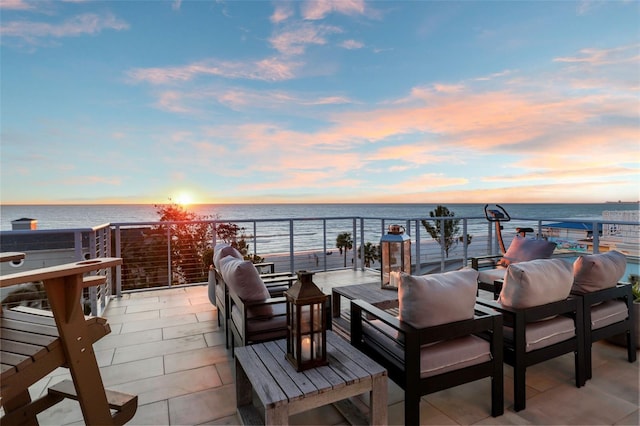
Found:
[[278, 340], [235, 349], [236, 360], [265, 407], [288, 404], [386, 375], [382, 366], [332, 331], [327, 331], [327, 366], [297, 372], [285, 359], [285, 348], [286, 341]]

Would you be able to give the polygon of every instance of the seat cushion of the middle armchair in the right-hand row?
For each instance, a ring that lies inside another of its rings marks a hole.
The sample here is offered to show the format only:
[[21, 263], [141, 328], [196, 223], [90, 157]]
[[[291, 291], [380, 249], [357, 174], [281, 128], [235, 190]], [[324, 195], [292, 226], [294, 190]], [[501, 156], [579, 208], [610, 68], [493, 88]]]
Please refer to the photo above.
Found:
[[[531, 352], [563, 342], [571, 339], [575, 334], [576, 328], [573, 320], [564, 316], [527, 324], [525, 351]], [[513, 341], [513, 329], [511, 327], [504, 327], [504, 338], [505, 340]]]

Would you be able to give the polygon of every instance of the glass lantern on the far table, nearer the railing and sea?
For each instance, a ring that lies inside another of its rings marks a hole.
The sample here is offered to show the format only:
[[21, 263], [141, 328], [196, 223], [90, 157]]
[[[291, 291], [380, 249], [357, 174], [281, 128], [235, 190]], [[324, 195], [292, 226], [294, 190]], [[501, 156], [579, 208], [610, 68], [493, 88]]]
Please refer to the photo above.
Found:
[[398, 289], [400, 272], [411, 273], [411, 238], [404, 227], [390, 225], [380, 239], [382, 288]]

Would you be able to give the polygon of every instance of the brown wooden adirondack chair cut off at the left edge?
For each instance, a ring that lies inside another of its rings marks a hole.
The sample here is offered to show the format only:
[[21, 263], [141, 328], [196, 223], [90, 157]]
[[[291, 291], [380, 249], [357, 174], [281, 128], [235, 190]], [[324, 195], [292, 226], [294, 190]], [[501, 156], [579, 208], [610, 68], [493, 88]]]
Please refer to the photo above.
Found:
[[[0, 256], [2, 261], [20, 258], [18, 253]], [[99, 258], [0, 276], [0, 287], [42, 281], [51, 306], [51, 312], [25, 307], [0, 311], [0, 423], [38, 424], [36, 415], [64, 398], [80, 403], [86, 424], [121, 425], [133, 417], [138, 397], [105, 390], [93, 351], [93, 343], [111, 331], [109, 325], [104, 318], [85, 318], [80, 304], [83, 288], [105, 281], [84, 274], [120, 264], [119, 258]], [[51, 386], [32, 401], [29, 386], [58, 367], [69, 368], [72, 380]]]

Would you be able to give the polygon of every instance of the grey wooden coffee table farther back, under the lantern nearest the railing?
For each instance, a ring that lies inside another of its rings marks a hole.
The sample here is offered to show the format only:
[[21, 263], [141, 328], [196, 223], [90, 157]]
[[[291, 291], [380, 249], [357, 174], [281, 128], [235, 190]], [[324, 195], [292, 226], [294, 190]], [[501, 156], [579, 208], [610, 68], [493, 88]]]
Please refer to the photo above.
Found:
[[349, 309], [342, 310], [342, 297], [348, 300], [364, 300], [384, 310], [398, 307], [398, 291], [383, 289], [380, 287], [380, 282], [333, 287], [331, 296], [334, 329], [347, 338], [351, 334], [349, 329], [351, 313]]

